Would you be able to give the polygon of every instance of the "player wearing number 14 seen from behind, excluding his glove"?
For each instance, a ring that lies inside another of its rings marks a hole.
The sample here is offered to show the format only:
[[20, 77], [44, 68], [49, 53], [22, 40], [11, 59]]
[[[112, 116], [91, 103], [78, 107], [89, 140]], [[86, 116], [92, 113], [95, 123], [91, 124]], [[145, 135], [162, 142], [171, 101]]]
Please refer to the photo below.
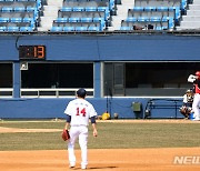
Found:
[[69, 168], [76, 167], [74, 143], [76, 140], [79, 139], [82, 160], [81, 169], [87, 169], [89, 119], [91, 120], [93, 137], [98, 135], [96, 127], [97, 112], [93, 105], [84, 99], [86, 95], [87, 91], [84, 89], [79, 89], [77, 91], [77, 98], [70, 101], [64, 110], [64, 113], [67, 114], [64, 129], [68, 130], [70, 128], [70, 139], [68, 141]]

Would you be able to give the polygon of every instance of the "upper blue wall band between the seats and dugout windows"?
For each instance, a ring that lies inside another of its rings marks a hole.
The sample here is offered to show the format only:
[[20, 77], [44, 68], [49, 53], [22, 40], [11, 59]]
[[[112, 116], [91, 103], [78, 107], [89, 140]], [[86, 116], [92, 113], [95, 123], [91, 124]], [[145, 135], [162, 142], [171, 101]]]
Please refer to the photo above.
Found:
[[199, 60], [199, 36], [0, 36], [0, 60], [19, 61], [19, 46], [44, 44], [47, 61]]

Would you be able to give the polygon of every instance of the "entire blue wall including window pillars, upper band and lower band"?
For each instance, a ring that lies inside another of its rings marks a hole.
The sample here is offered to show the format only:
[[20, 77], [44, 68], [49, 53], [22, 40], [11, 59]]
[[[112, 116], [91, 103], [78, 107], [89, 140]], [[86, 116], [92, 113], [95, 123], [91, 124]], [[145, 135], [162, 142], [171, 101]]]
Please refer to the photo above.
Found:
[[[46, 61], [92, 61], [94, 67], [94, 98], [88, 100], [98, 114], [107, 110], [120, 118], [144, 117], [149, 98], [101, 97], [100, 62], [103, 61], [199, 61], [200, 38], [182, 34], [30, 34], [0, 36], [0, 62], [13, 62], [13, 98], [0, 99], [0, 118], [64, 118], [63, 110], [71, 99], [20, 98], [19, 46], [43, 44]], [[109, 101], [108, 101], [109, 100]], [[141, 112], [132, 110], [140, 102]], [[109, 109], [107, 109], [109, 103]], [[173, 104], [172, 104], [173, 105]], [[180, 118], [176, 108], [153, 109], [151, 118]]]

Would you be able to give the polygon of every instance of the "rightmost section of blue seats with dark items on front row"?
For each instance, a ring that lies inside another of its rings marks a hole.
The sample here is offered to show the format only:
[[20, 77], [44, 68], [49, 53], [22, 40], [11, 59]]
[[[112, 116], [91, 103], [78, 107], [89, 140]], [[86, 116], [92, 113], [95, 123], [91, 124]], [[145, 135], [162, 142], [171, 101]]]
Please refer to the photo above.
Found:
[[187, 6], [188, 0], [136, 0], [121, 30], [173, 30]]

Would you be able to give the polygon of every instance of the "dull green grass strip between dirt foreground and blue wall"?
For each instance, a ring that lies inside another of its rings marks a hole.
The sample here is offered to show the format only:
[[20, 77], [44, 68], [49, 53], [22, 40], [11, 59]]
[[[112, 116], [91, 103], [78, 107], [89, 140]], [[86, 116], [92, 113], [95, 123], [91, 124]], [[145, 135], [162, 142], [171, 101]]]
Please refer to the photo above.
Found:
[[[0, 127], [62, 129], [64, 122], [0, 122]], [[89, 149], [200, 147], [200, 124], [192, 123], [98, 123], [98, 138], [89, 127]], [[0, 151], [62, 150], [61, 132], [0, 133]], [[78, 144], [77, 144], [78, 147]]]

